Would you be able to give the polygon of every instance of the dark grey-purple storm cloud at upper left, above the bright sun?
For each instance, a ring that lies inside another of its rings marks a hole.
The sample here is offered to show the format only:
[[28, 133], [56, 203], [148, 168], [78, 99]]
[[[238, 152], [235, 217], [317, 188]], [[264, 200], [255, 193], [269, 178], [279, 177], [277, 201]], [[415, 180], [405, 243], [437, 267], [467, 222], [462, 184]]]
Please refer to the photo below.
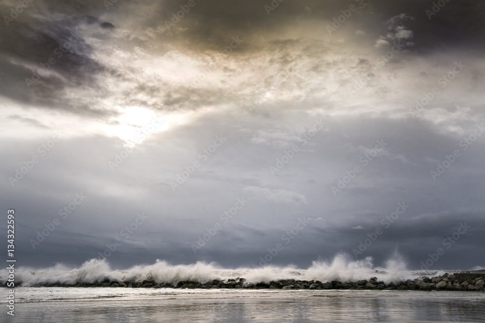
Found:
[[[2, 14], [6, 13], [3, 7]], [[62, 99], [66, 88], [90, 83], [103, 70], [89, 57], [92, 48], [75, 30], [81, 22], [22, 18], [0, 27], [1, 94], [26, 104], [89, 110], [73, 101], [65, 105]]]

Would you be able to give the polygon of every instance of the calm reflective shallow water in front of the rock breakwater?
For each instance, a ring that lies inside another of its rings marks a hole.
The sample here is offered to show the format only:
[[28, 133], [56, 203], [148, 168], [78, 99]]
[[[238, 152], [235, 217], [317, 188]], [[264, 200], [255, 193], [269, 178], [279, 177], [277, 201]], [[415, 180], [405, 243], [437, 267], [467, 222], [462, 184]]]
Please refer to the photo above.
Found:
[[16, 288], [32, 322], [484, 322], [484, 292]]

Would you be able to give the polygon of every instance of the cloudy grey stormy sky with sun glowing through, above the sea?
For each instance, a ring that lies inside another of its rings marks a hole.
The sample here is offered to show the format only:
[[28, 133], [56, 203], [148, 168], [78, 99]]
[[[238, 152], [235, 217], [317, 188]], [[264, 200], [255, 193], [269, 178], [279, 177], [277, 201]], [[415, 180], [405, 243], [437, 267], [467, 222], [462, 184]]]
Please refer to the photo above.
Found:
[[17, 261], [483, 267], [485, 1], [280, 1], [2, 0]]

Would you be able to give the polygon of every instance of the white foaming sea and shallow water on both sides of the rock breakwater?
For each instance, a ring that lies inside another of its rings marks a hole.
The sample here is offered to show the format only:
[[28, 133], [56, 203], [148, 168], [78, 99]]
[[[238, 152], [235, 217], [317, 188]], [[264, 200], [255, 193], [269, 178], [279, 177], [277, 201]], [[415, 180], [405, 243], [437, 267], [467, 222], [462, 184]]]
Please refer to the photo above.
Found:
[[[388, 262], [386, 268], [374, 268], [369, 261], [336, 257], [331, 262], [316, 261], [308, 269], [225, 269], [213, 263], [171, 265], [157, 261], [113, 270], [106, 261], [94, 259], [78, 268], [62, 264], [42, 269], [20, 267], [15, 272], [17, 284], [21, 282], [15, 288], [15, 316], [6, 314], [8, 289], [1, 288], [0, 322], [485, 322], [484, 292], [57, 286], [107, 280], [177, 284], [181, 280], [237, 277], [254, 283], [291, 278], [346, 282], [376, 277], [388, 283], [444, 273], [406, 270], [398, 260]], [[7, 277], [8, 272], [0, 270], [2, 284]]]

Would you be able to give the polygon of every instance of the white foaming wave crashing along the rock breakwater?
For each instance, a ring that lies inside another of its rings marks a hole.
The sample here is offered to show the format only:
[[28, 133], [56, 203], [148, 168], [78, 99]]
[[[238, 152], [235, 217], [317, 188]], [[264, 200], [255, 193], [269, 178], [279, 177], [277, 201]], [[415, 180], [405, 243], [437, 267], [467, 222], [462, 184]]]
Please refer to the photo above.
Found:
[[[281, 279], [320, 280], [342, 282], [357, 281], [377, 277], [386, 283], [406, 279], [415, 279], [423, 275], [442, 275], [444, 271], [412, 271], [406, 268], [404, 258], [397, 252], [385, 261], [383, 267], [374, 267], [372, 257], [363, 260], [352, 260], [349, 255], [338, 254], [332, 260], [313, 261], [307, 269], [289, 265], [286, 267], [266, 266], [261, 268], [226, 269], [217, 263], [196, 262], [189, 265], [172, 265], [167, 261], [157, 260], [150, 265], [137, 265], [127, 270], [113, 270], [106, 260], [92, 259], [84, 262], [79, 268], [69, 268], [63, 264], [54, 267], [33, 269], [19, 267], [16, 269], [17, 282], [22, 286], [45, 285], [50, 283], [76, 284], [94, 283], [105, 279], [110, 281], [155, 280], [174, 283], [181, 280], [207, 282], [212, 279], [226, 280], [243, 277], [248, 282], [271, 281]], [[0, 271], [2, 284], [8, 279], [7, 269]]]

